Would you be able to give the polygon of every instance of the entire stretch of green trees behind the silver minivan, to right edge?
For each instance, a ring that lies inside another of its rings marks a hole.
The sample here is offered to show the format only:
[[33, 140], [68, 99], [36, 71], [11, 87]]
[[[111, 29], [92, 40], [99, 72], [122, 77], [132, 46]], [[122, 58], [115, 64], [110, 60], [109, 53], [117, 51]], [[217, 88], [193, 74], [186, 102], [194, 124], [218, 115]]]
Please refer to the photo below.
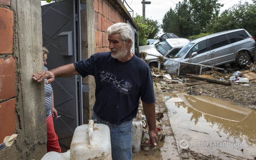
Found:
[[[165, 33], [196, 39], [209, 33], [244, 28], [256, 37], [256, 0], [241, 1], [220, 14], [219, 0], [184, 0], [167, 11], [161, 28]], [[219, 15], [220, 14], [220, 15]], [[193, 36], [192, 36], [193, 35]]]

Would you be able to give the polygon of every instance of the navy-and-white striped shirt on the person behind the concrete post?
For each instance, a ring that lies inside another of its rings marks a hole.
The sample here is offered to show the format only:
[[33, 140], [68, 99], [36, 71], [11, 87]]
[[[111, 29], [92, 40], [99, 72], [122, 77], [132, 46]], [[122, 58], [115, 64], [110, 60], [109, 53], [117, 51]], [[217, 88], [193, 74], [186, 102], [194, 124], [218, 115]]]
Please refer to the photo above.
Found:
[[[44, 67], [45, 71], [48, 71], [46, 67]], [[46, 84], [47, 78], [44, 79], [44, 96], [45, 96], [45, 114], [46, 118], [52, 115], [52, 86], [51, 84]]]

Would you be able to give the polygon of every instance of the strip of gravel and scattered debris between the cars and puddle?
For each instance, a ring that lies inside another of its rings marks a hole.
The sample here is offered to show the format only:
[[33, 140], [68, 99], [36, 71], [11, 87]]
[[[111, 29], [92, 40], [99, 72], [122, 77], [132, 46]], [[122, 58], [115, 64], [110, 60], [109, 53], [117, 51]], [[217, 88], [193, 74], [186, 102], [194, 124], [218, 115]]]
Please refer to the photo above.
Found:
[[[228, 69], [232, 70], [232, 69]], [[176, 76], [172, 75], [172, 80], [163, 79], [164, 71], [158, 71], [156, 68], [152, 69], [153, 74], [161, 76], [154, 77], [153, 80], [161, 84], [162, 91], [170, 92], [187, 92], [192, 95], [205, 95], [210, 97], [217, 97], [222, 99], [230, 99], [233, 102], [256, 109], [256, 73], [254, 71], [240, 70], [241, 75], [235, 77], [234, 81], [229, 80], [234, 72], [238, 69], [235, 68], [232, 73], [220, 72], [214, 69], [204, 71], [202, 75]], [[153, 73], [154, 72], [154, 73]], [[219, 83], [228, 83], [231, 85], [221, 85], [209, 83], [207, 80], [198, 80], [192, 77], [198, 76], [203, 78], [211, 78], [212, 81]], [[162, 78], [161, 78], [162, 77]], [[248, 78], [248, 79], [247, 79]], [[249, 82], [248, 82], [249, 80]], [[240, 81], [240, 82], [239, 82]]]

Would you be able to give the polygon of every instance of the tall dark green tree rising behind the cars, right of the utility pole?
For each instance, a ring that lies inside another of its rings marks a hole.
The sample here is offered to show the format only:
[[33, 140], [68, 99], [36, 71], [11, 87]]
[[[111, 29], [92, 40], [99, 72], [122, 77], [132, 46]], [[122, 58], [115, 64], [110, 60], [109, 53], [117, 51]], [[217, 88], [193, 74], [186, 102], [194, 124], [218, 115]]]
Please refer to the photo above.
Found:
[[218, 17], [221, 6], [218, 0], [184, 0], [166, 12], [161, 27], [180, 37], [207, 32], [206, 25]]

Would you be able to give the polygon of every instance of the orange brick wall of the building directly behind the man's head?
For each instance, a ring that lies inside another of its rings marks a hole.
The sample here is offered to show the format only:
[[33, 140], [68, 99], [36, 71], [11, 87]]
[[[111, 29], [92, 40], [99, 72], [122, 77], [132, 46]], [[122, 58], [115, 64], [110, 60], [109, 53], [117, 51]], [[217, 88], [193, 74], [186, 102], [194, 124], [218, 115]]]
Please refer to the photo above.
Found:
[[94, 0], [94, 14], [95, 53], [110, 51], [107, 29], [114, 23], [124, 22], [125, 19], [108, 0]]

